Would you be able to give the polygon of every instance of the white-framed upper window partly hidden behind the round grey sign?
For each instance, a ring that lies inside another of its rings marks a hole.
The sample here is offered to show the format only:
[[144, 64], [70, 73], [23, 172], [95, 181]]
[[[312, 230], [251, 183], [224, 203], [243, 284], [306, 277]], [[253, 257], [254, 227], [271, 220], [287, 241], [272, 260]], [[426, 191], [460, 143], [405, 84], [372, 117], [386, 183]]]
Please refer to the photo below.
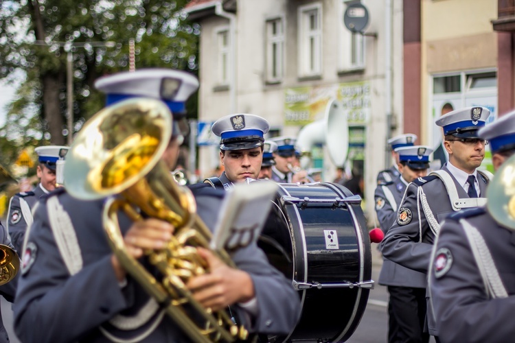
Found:
[[[343, 18], [347, 5], [356, 2], [356, 0], [341, 0], [341, 15]], [[365, 40], [363, 35], [353, 33], [340, 21], [340, 39], [339, 39], [339, 70], [347, 71], [352, 69], [365, 68]]]

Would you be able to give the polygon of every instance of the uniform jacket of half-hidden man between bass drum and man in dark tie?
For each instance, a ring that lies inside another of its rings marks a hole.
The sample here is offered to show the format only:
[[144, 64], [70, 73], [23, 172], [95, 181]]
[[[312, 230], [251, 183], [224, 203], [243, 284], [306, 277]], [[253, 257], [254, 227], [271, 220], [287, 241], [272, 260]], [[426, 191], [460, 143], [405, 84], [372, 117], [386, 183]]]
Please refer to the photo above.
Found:
[[[376, 187], [374, 193], [376, 213], [380, 228], [385, 235], [396, 221], [397, 210], [406, 189], [407, 183], [400, 175], [393, 182], [381, 183]], [[378, 282], [380, 285], [425, 288], [426, 274], [403, 267], [383, 257]]]

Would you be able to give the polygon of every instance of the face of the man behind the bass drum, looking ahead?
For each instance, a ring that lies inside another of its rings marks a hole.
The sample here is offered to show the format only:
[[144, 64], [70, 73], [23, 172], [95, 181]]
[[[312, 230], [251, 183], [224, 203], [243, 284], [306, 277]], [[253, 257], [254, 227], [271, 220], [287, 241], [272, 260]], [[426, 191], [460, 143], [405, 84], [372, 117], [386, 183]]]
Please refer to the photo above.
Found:
[[247, 178], [257, 179], [263, 161], [262, 147], [220, 152], [225, 175], [232, 182], [244, 182]]

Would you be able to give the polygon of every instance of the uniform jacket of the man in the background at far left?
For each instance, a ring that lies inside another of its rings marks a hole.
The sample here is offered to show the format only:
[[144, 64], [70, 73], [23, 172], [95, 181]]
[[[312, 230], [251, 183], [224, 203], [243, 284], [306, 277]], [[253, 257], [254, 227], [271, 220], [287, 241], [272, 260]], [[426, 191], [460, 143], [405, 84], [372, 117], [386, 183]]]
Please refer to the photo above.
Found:
[[9, 202], [7, 228], [12, 239], [12, 244], [14, 245], [14, 248], [16, 248], [16, 251], [18, 251], [20, 254], [21, 248], [23, 246], [23, 239], [25, 237], [25, 231], [27, 230], [27, 220], [32, 222], [32, 215], [30, 219], [27, 219], [24, 211], [22, 211], [20, 199], [25, 200], [25, 202], [27, 202], [29, 205], [30, 210], [32, 211], [36, 205], [36, 202], [38, 202], [38, 200], [45, 194], [47, 194], [47, 192], [43, 190], [43, 186], [41, 186], [40, 183], [34, 187], [32, 191], [15, 194], [12, 196]]

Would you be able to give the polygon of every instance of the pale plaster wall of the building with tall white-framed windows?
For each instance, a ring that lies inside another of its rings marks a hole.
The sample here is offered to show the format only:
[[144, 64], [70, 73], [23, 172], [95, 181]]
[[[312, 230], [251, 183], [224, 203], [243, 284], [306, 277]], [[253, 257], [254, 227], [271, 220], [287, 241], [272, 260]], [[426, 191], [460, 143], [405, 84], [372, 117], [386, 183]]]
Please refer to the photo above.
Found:
[[[299, 78], [298, 75], [298, 21], [299, 6], [321, 3], [323, 17], [323, 54], [322, 71], [317, 78]], [[391, 9], [385, 9], [385, 1], [366, 0], [362, 3], [369, 12], [369, 25], [365, 32], [377, 36], [365, 36], [365, 68], [358, 71], [339, 70], [339, 39], [343, 25], [343, 2], [336, 0], [260, 0], [238, 1], [236, 13], [236, 112], [261, 115], [271, 123], [271, 128], [279, 129], [281, 134], [297, 136], [301, 126], [285, 125], [285, 91], [299, 87], [337, 88], [352, 82], [367, 82], [369, 85], [369, 117], [365, 123], [365, 199], [367, 212], [374, 213], [374, 189], [378, 171], [389, 167], [386, 141], [395, 134], [403, 133], [403, 56], [402, 56], [402, 1], [391, 1]], [[385, 19], [391, 15], [392, 79], [391, 103], [393, 122], [396, 127], [390, 131], [387, 122], [385, 85], [386, 46]], [[286, 27], [286, 69], [282, 82], [267, 84], [266, 58], [266, 21], [283, 17]], [[209, 16], [200, 21], [201, 54], [199, 95], [199, 121], [214, 121], [230, 114], [231, 99], [227, 88], [216, 84], [216, 30], [229, 25], [220, 16]], [[321, 116], [314, 118], [322, 119]], [[201, 147], [198, 167], [206, 176], [218, 163], [218, 147]], [[324, 180], [330, 181], [335, 166], [328, 158], [324, 159]]]

